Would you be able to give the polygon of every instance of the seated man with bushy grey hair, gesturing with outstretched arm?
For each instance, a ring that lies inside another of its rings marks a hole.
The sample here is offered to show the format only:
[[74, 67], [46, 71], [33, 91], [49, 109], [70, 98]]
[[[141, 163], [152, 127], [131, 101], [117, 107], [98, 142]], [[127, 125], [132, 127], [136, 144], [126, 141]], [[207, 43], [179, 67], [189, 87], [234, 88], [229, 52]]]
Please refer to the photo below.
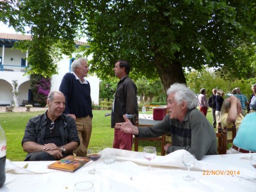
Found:
[[185, 84], [175, 83], [167, 90], [168, 114], [152, 127], [136, 127], [124, 115], [124, 123], [116, 123], [115, 128], [131, 132], [141, 138], [158, 137], [167, 132], [172, 134], [172, 143], [164, 146], [171, 153], [188, 150], [200, 160], [205, 155], [217, 154], [216, 134], [207, 118], [196, 109], [196, 97]]

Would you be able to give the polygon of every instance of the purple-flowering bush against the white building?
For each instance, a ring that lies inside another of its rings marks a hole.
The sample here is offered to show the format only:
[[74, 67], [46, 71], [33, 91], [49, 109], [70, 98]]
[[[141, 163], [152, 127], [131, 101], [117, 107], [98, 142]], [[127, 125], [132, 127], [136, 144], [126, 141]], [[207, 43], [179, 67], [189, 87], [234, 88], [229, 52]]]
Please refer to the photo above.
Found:
[[51, 91], [51, 78], [45, 78], [40, 74], [32, 74], [30, 80], [33, 100], [36, 100], [44, 107], [46, 105], [47, 96]]

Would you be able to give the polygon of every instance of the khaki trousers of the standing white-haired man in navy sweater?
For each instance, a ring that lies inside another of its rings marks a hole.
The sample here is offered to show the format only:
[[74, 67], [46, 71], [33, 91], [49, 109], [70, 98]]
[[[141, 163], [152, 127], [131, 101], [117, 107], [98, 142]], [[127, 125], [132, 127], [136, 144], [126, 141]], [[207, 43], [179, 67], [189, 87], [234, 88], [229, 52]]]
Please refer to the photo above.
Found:
[[76, 118], [76, 128], [80, 140], [79, 147], [74, 151], [76, 156], [85, 157], [92, 134], [92, 117]]

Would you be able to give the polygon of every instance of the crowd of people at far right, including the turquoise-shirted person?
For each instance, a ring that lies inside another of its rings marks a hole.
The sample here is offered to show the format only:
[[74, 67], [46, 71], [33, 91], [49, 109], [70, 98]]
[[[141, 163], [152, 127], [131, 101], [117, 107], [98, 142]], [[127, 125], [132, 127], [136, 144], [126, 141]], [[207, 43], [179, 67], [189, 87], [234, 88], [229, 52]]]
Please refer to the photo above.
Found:
[[[236, 137], [232, 147], [227, 150], [227, 154], [256, 152], [256, 141], [254, 140], [256, 136], [256, 129], [254, 129], [256, 123], [256, 84], [252, 85], [252, 92], [250, 100], [248, 100], [241, 93], [240, 88], [234, 88], [232, 95], [223, 99], [224, 93], [214, 88], [209, 97], [208, 105], [212, 111], [213, 127], [215, 128], [218, 123], [222, 127], [236, 125]], [[204, 95], [206, 97], [206, 92]], [[198, 97], [199, 106], [200, 102]], [[205, 113], [203, 114], [205, 115]]]

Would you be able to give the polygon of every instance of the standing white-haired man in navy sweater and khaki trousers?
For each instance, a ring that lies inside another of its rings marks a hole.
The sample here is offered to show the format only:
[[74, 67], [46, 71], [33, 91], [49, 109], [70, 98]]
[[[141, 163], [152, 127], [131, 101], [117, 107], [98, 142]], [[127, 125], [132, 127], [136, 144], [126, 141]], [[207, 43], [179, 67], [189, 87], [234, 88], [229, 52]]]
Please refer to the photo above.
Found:
[[92, 99], [88, 75], [88, 61], [78, 58], [71, 64], [72, 73], [67, 73], [60, 84], [60, 91], [65, 95], [64, 113], [76, 120], [80, 145], [74, 153], [84, 157], [92, 134]]

